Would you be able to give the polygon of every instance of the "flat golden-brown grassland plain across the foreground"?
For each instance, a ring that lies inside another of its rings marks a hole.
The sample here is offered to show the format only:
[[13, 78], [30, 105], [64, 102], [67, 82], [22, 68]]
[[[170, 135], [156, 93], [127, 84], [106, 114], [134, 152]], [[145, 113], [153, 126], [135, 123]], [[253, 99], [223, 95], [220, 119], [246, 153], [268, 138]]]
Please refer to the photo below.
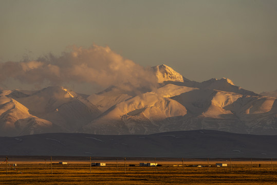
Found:
[[[0, 157], [0, 184], [277, 184], [275, 159], [184, 159], [157, 158], [160, 167], [139, 167], [154, 158], [92, 158], [105, 167], [89, 166], [89, 157]], [[46, 160], [45, 160], [46, 159]], [[57, 164], [60, 161], [68, 164]], [[13, 167], [16, 163], [17, 166]], [[46, 164], [45, 164], [46, 163]], [[228, 167], [216, 167], [227, 163]], [[251, 164], [252, 163], [252, 164]], [[10, 165], [11, 167], [10, 167]], [[230, 166], [232, 164], [232, 168]], [[131, 165], [131, 166], [130, 166]], [[135, 166], [132, 166], [135, 165]], [[195, 166], [196, 165], [196, 166]], [[197, 167], [202, 165], [204, 167]], [[91, 173], [90, 173], [91, 169]], [[125, 173], [126, 169], [126, 173]], [[156, 172], [157, 170], [157, 172]]]

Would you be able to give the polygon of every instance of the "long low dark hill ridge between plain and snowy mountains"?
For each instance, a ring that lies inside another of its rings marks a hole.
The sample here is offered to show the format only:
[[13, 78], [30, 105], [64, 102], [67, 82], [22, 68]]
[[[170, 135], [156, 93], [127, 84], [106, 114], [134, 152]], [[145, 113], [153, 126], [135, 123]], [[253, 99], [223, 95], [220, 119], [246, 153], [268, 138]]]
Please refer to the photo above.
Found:
[[49, 133], [0, 137], [0, 155], [277, 158], [277, 136], [198, 130], [152, 135]]

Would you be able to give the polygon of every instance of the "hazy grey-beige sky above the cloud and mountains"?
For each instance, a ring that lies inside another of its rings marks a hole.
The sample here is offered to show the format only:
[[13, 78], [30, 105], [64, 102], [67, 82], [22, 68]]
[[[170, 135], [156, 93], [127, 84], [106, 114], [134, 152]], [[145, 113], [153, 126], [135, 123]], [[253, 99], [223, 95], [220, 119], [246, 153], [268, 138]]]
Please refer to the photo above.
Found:
[[199, 82], [226, 77], [260, 93], [277, 89], [276, 17], [273, 0], [0, 0], [0, 62], [96, 44], [123, 62], [166, 64]]

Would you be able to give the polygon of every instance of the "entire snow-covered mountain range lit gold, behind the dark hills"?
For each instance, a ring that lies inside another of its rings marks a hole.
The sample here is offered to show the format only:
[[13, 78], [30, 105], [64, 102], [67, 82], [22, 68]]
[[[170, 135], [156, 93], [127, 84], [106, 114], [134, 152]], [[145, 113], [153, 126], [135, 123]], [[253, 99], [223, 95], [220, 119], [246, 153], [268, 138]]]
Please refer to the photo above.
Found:
[[277, 135], [277, 98], [245, 90], [226, 78], [195, 82], [167, 65], [152, 69], [157, 88], [140, 93], [116, 86], [90, 96], [60, 86], [0, 91], [0, 136], [200, 129]]

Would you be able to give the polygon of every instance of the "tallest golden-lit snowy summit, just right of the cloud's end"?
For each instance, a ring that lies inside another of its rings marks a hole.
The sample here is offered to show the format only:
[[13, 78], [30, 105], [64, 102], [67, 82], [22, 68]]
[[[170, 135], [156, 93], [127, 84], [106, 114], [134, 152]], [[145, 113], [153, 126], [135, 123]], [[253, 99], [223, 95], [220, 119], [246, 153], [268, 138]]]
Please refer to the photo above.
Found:
[[159, 65], [152, 67], [155, 75], [158, 79], [158, 83], [162, 83], [164, 81], [173, 81], [173, 82], [184, 82], [189, 81], [184, 78], [180, 73], [176, 72], [174, 69], [167, 65]]

